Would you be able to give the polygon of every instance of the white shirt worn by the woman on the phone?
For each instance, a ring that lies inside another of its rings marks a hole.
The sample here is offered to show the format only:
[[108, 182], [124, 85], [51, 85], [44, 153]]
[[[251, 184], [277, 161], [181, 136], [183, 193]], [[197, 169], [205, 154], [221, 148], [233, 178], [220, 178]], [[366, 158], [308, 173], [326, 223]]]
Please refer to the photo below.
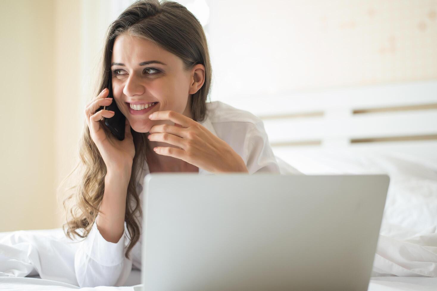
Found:
[[[223, 102], [207, 103], [207, 112], [203, 122], [206, 129], [229, 144], [246, 163], [249, 174], [257, 172], [280, 173], [278, 162], [271, 149], [260, 118], [250, 112], [234, 108]], [[142, 201], [143, 179], [150, 173], [147, 162], [137, 179], [137, 193]], [[199, 175], [210, 175], [199, 168]], [[142, 219], [139, 221], [142, 222]], [[122, 286], [132, 268], [141, 270], [141, 237], [132, 248], [128, 260], [125, 251], [129, 240], [126, 229], [118, 243], [105, 240], [96, 223], [83, 240], [75, 254], [74, 266], [76, 279], [80, 287]]]

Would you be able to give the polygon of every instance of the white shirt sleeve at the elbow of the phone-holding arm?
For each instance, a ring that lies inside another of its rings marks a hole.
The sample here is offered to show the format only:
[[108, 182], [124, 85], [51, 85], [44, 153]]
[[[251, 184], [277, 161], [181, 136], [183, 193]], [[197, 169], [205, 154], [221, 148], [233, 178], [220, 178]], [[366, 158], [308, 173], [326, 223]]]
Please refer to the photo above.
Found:
[[79, 287], [122, 286], [132, 270], [132, 260], [125, 257], [127, 228], [117, 243], [102, 237], [94, 222], [74, 257]]

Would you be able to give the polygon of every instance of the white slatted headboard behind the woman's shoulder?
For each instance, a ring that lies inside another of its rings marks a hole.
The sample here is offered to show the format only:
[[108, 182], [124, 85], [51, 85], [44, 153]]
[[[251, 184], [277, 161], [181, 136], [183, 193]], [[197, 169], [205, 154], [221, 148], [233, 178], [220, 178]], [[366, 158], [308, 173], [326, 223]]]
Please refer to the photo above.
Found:
[[275, 153], [378, 149], [437, 164], [437, 81], [243, 96], [230, 105], [264, 121]]

